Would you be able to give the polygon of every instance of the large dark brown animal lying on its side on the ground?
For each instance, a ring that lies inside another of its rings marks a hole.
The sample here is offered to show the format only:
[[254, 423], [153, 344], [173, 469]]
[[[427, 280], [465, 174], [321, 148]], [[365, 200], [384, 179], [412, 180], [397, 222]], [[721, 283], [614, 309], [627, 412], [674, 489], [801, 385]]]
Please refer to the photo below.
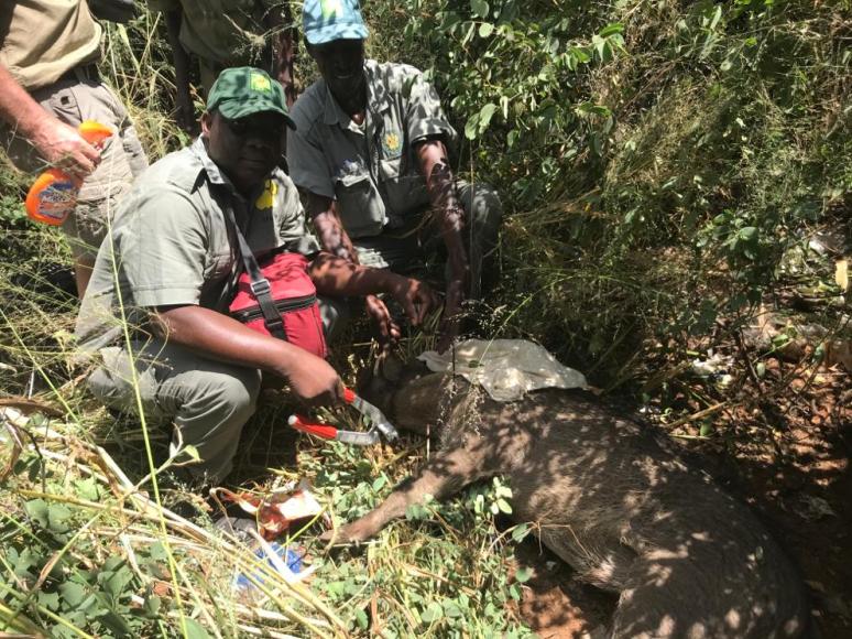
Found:
[[440, 431], [419, 474], [336, 532], [365, 540], [425, 495], [444, 499], [494, 475], [513, 517], [580, 580], [619, 594], [609, 636], [799, 637], [804, 585], [749, 508], [691, 469], [649, 429], [582, 391], [500, 403], [460, 378], [428, 373], [364, 396], [401, 427]]

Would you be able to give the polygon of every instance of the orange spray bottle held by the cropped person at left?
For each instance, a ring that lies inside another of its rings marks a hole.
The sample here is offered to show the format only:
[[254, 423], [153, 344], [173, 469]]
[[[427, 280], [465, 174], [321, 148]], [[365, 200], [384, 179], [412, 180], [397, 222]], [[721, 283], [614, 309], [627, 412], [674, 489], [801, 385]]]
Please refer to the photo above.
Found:
[[[109, 127], [95, 120], [80, 122], [77, 130], [84, 140], [98, 148], [112, 136]], [[26, 214], [37, 221], [59, 226], [77, 204], [80, 183], [59, 169], [48, 169], [35, 178], [26, 194]]]

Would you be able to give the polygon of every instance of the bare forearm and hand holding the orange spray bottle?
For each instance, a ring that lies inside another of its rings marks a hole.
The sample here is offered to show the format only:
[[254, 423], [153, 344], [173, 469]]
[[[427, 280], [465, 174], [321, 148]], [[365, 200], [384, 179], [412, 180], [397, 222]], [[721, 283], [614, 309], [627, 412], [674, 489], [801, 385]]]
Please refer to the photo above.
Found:
[[98, 150], [77, 129], [58, 120], [36, 102], [0, 65], [0, 118], [35, 147], [47, 164], [84, 178], [100, 162]]

